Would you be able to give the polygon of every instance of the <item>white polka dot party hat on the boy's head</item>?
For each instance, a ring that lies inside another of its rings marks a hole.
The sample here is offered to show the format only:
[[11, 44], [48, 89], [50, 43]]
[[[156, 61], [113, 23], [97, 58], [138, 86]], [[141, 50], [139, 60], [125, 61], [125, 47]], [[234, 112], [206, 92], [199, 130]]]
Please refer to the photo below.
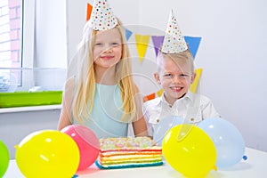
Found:
[[174, 12], [171, 11], [161, 51], [163, 53], [180, 53], [187, 49], [177, 19], [174, 17]]

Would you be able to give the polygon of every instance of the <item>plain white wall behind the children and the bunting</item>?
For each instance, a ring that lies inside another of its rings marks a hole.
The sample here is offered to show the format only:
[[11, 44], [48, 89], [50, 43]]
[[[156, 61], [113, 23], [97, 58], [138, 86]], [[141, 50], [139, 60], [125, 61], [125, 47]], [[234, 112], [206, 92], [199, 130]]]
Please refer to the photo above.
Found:
[[[93, 1], [67, 2], [69, 58], [81, 38], [86, 2]], [[127, 28], [141, 35], [164, 35], [173, 8], [183, 34], [202, 37], [195, 60], [204, 69], [199, 91], [239, 128], [248, 147], [267, 151], [266, 1], [109, 0], [109, 4]], [[142, 63], [137, 61], [134, 44], [130, 48], [134, 72], [143, 73], [136, 77], [142, 93], [154, 93], [158, 86], [152, 82], [153, 48], [149, 47]]]

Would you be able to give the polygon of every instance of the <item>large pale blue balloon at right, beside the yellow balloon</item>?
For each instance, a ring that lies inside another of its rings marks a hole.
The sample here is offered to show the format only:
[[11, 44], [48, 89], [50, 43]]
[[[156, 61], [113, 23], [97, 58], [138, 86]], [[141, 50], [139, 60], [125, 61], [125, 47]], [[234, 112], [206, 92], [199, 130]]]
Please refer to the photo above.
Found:
[[198, 124], [214, 142], [217, 151], [217, 167], [233, 166], [244, 156], [245, 142], [239, 130], [227, 120], [214, 117]]

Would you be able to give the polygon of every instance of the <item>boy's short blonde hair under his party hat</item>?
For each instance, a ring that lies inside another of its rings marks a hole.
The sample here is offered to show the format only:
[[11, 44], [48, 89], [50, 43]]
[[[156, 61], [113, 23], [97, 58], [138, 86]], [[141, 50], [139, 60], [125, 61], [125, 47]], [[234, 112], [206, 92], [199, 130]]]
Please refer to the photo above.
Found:
[[161, 64], [162, 60], [168, 56], [170, 59], [172, 59], [177, 65], [182, 63], [187, 63], [189, 62], [190, 64], [190, 70], [191, 73], [194, 73], [194, 61], [193, 61], [193, 55], [190, 53], [190, 50], [187, 49], [183, 52], [180, 53], [163, 53], [161, 50], [158, 51], [158, 56], [157, 56], [157, 68], [158, 72], [161, 71]]

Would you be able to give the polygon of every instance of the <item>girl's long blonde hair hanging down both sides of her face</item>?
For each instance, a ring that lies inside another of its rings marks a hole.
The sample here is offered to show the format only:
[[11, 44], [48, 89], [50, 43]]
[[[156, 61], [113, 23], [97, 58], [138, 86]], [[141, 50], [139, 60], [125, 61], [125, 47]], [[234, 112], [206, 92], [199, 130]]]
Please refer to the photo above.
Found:
[[[123, 28], [120, 20], [115, 28], [118, 29], [122, 41], [122, 57], [116, 64], [116, 77], [121, 91], [122, 108], [124, 114], [121, 120], [126, 118], [127, 114], [133, 114], [135, 111], [134, 95], [138, 92], [134, 85], [132, 77], [132, 65], [130, 60], [130, 53], [125, 39], [125, 28]], [[74, 101], [72, 104], [72, 116], [78, 122], [83, 122], [90, 118], [93, 110], [93, 98], [95, 93], [95, 76], [93, 69], [93, 43], [96, 35], [95, 30], [90, 28], [88, 24], [85, 25], [84, 36], [82, 42], [79, 44], [79, 51], [77, 53], [78, 61], [80, 61], [79, 74], [76, 82], [76, 93], [74, 94]]]

